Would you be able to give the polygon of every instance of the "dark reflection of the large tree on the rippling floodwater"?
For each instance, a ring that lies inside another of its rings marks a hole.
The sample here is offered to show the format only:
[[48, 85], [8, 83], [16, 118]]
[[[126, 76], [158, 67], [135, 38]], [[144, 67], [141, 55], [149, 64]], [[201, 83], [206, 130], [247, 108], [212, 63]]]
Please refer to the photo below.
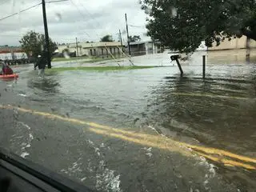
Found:
[[150, 119], [200, 142], [250, 154], [256, 147], [248, 139], [256, 129], [255, 92], [251, 88], [250, 81], [168, 78], [153, 91], [156, 97]]

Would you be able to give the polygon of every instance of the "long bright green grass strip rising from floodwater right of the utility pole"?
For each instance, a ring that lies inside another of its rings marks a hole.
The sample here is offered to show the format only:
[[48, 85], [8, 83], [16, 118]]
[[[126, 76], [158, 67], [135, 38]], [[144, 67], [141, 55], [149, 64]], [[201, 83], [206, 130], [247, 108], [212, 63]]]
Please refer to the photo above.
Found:
[[86, 70], [86, 71], [111, 71], [111, 70], [140, 70], [140, 69], [150, 69], [158, 66], [78, 66], [78, 67], [58, 67], [51, 68], [47, 71], [49, 72], [62, 72], [70, 70]]

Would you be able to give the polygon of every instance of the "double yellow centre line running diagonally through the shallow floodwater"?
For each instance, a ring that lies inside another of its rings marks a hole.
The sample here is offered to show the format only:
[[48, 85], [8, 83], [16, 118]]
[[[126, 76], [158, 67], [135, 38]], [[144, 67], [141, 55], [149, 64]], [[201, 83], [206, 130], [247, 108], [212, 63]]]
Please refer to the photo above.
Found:
[[[189, 155], [189, 152], [187, 150], [182, 150], [181, 146], [184, 146], [186, 148], [190, 148], [190, 149], [194, 150], [194, 153], [199, 154], [205, 158], [208, 158], [214, 162], [222, 162], [225, 165], [241, 166], [246, 169], [256, 170], [255, 166], [243, 163], [243, 162], [256, 163], [256, 158], [249, 158], [249, 157], [242, 156], [239, 154], [233, 154], [226, 150], [218, 150], [215, 148], [210, 148], [210, 147], [205, 147], [205, 146], [193, 146], [193, 145], [187, 144], [185, 142], [177, 142], [170, 138], [163, 138], [162, 136], [159, 136], [159, 135], [156, 136], [156, 135], [152, 135], [152, 134], [141, 134], [141, 133], [137, 133], [134, 131], [120, 130], [120, 129], [116, 129], [116, 128], [113, 128], [110, 126], [99, 125], [98, 123], [95, 123], [95, 122], [85, 122], [85, 121], [78, 120], [75, 118], [65, 118], [65, 117], [62, 117], [61, 115], [50, 114], [50, 113], [40, 112], [40, 111], [36, 111], [36, 110], [24, 109], [21, 107], [0, 105], [0, 108], [9, 109], [9, 110], [18, 110], [23, 113], [36, 114], [36, 115], [40, 115], [45, 118], [58, 119], [58, 120], [66, 121], [66, 122], [73, 122], [73, 123], [77, 123], [77, 124], [81, 124], [81, 125], [87, 125], [87, 126], [90, 126], [89, 130], [96, 134], [105, 134], [110, 137], [121, 138], [122, 140], [126, 140], [128, 142], [134, 142], [134, 143], [138, 143], [140, 145], [145, 145], [145, 146], [152, 146], [152, 147], [156, 147], [156, 148], [162, 149], [162, 150], [178, 151], [182, 154]], [[203, 153], [206, 153], [206, 154], [203, 154], [200, 151]], [[242, 162], [236, 162], [236, 161], [229, 160], [226, 158], [217, 158], [217, 157], [210, 156], [209, 154], [212, 154], [212, 155], [217, 154], [217, 155], [221, 155], [221, 156], [226, 156], [228, 158], [236, 158]]]

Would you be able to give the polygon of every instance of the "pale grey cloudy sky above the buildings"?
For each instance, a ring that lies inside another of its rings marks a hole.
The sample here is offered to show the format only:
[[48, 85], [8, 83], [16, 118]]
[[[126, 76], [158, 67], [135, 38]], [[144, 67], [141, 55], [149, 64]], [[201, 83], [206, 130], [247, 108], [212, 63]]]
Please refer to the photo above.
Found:
[[[18, 46], [18, 40], [29, 30], [44, 33], [42, 5], [16, 14], [42, 0], [0, 0], [0, 45]], [[46, 0], [50, 2], [54, 0]], [[56, 0], [55, 0], [56, 1]], [[130, 35], [146, 37], [146, 14], [140, 9], [138, 0], [67, 0], [46, 3], [46, 14], [50, 38], [55, 42], [98, 41], [106, 34], [118, 40], [118, 30], [126, 41], [125, 13]]]

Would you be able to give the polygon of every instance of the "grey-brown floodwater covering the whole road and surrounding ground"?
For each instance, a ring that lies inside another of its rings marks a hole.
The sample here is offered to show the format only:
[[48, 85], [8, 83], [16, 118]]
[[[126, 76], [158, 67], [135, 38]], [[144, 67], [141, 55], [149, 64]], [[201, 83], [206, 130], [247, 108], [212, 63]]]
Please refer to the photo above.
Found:
[[163, 67], [44, 79], [33, 66], [14, 68], [20, 78], [0, 83], [11, 106], [1, 112], [0, 143], [94, 190], [254, 191], [256, 50], [250, 59], [246, 50], [196, 52], [183, 77], [169, 58], [132, 58]]

